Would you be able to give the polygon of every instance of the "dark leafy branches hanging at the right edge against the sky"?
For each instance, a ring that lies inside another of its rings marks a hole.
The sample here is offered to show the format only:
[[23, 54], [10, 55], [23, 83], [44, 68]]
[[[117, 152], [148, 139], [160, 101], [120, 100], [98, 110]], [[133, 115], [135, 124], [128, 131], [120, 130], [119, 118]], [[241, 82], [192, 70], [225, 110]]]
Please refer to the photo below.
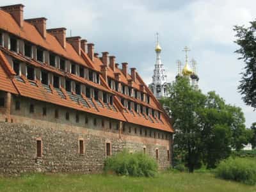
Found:
[[241, 54], [239, 60], [245, 63], [244, 72], [239, 85], [239, 92], [246, 105], [256, 109], [256, 20], [250, 22], [250, 27], [235, 26], [237, 40], [240, 46], [237, 53]]

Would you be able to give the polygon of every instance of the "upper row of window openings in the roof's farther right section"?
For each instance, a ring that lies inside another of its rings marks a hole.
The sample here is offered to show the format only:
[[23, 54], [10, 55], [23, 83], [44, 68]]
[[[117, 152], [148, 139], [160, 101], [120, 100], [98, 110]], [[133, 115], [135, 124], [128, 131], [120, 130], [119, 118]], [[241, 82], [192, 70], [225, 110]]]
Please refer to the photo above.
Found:
[[112, 90], [115, 90], [116, 92], [120, 92], [124, 95], [128, 95], [129, 97], [134, 97], [135, 99], [140, 99], [143, 102], [150, 103], [150, 96], [146, 93], [140, 92], [139, 90], [136, 90], [135, 88], [132, 88], [131, 86], [127, 86], [123, 83], [119, 83], [118, 81], [115, 81], [111, 78], [108, 78], [108, 86]]

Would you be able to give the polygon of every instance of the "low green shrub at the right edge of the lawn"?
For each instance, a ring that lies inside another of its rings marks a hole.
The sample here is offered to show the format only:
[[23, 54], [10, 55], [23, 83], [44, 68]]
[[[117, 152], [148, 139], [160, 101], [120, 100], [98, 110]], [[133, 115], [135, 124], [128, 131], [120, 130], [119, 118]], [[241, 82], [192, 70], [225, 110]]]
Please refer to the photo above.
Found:
[[248, 158], [228, 158], [218, 165], [216, 176], [245, 184], [256, 183], [256, 163]]

